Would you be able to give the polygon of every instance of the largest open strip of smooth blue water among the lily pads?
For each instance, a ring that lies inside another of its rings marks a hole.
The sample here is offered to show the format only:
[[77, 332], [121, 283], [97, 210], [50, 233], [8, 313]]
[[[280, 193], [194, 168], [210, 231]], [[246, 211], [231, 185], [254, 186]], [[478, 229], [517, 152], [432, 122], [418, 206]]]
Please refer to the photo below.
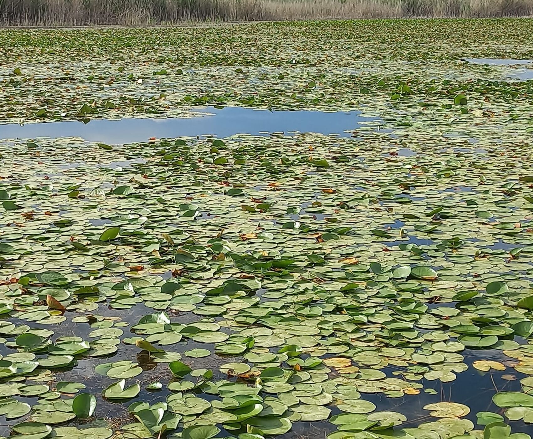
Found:
[[379, 118], [360, 116], [360, 111], [269, 111], [240, 107], [207, 108], [198, 112], [213, 113], [188, 119], [93, 119], [87, 124], [80, 121], [60, 121], [28, 125], [0, 125], [0, 139], [34, 139], [35, 137], [83, 137], [89, 142], [128, 143], [142, 142], [150, 137], [179, 137], [213, 134], [227, 137], [234, 134], [268, 134], [283, 132], [313, 132], [350, 137], [345, 130], [361, 128], [361, 123]]

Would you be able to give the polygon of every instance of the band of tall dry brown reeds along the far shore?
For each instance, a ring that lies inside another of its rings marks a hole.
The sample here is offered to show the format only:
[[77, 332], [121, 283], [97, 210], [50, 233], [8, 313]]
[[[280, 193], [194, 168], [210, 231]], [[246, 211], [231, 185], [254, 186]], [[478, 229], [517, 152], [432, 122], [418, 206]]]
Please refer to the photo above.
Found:
[[533, 0], [0, 0], [3, 26], [531, 15]]

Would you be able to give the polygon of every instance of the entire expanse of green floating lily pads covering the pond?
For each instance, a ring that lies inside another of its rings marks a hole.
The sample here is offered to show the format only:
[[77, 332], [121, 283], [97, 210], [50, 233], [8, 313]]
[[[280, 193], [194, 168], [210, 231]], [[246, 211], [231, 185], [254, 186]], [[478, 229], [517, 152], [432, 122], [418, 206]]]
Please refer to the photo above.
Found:
[[2, 434], [530, 438], [533, 81], [459, 60], [531, 58], [511, 21], [3, 31], [4, 121], [381, 119], [0, 141]]

